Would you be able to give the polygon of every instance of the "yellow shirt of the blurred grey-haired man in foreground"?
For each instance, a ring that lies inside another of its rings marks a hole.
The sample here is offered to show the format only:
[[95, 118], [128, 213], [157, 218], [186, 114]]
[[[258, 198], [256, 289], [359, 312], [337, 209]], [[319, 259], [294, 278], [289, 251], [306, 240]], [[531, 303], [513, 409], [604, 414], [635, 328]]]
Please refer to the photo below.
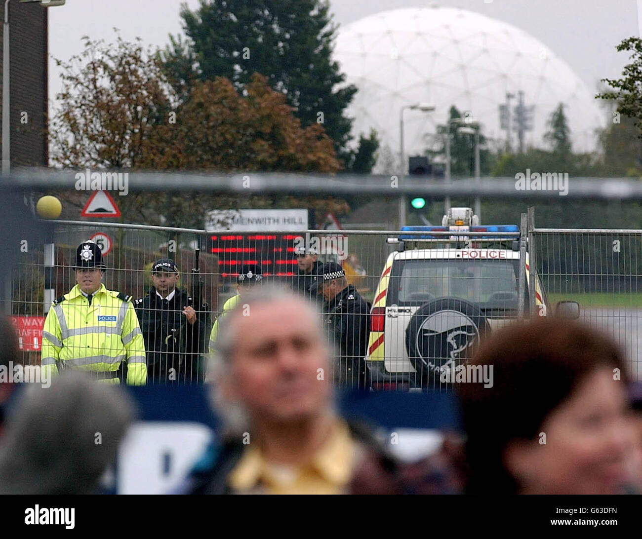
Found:
[[266, 461], [249, 445], [229, 476], [239, 494], [341, 494], [349, 483], [357, 445], [345, 422], [338, 422], [307, 465], [288, 466]]

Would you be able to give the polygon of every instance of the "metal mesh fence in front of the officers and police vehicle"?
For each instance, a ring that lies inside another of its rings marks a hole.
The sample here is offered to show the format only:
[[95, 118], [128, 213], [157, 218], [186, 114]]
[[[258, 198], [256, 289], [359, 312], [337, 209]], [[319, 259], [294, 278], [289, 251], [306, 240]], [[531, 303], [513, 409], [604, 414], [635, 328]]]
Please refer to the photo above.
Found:
[[[41, 363], [49, 298], [73, 291], [77, 278], [82, 278], [73, 269], [76, 248], [92, 239], [104, 253], [105, 287], [132, 296], [144, 338], [148, 383], [204, 381], [216, 320], [242, 299], [248, 282], [255, 282], [247, 279], [248, 268], [262, 275], [258, 286], [273, 282], [308, 296], [323, 317], [335, 356], [332, 377], [342, 387], [447, 389], [458, 375], [483, 380], [488, 373], [457, 370], [465, 366], [479, 341], [517, 320], [521, 312], [555, 314], [562, 301], [579, 302], [582, 320], [621, 343], [630, 373], [639, 379], [642, 231], [531, 230], [534, 300], [528, 254], [525, 257], [519, 250], [525, 230], [521, 236], [505, 234], [508, 237], [483, 232], [465, 237], [453, 237], [452, 232], [434, 232], [431, 237], [404, 234], [400, 237], [390, 230], [208, 233], [59, 222], [51, 238], [51, 267], [45, 245], [44, 250], [24, 253], [13, 270], [10, 314], [19, 329], [22, 361]], [[299, 253], [302, 245], [318, 254]], [[196, 249], [200, 249], [200, 273], [193, 275]], [[153, 262], [159, 259], [174, 261], [178, 275], [153, 272]], [[324, 280], [326, 262], [338, 264], [345, 281]], [[245, 282], [239, 283], [239, 274], [245, 275]], [[316, 276], [321, 284], [318, 291], [311, 291]], [[200, 283], [199, 289], [195, 283]], [[167, 296], [173, 284], [175, 294]], [[200, 298], [193, 297], [195, 291]], [[102, 315], [117, 318], [116, 312]], [[82, 320], [67, 320], [67, 325], [78, 329]], [[109, 345], [108, 335], [94, 337], [96, 343], [87, 345], [85, 338], [83, 346], [93, 350]], [[117, 376], [125, 379], [127, 372], [121, 367]]]

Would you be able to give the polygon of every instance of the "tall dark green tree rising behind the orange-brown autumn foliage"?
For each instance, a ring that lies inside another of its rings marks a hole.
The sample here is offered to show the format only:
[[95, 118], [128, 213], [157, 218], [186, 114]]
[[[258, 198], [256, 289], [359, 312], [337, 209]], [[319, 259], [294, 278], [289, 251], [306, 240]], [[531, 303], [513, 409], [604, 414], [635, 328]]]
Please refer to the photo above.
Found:
[[195, 80], [217, 76], [243, 91], [261, 73], [286, 95], [303, 127], [324, 126], [347, 170], [372, 162], [370, 139], [360, 139], [357, 150], [348, 146], [352, 119], [345, 108], [357, 89], [344, 84], [331, 58], [338, 27], [327, 0], [201, 0], [195, 11], [183, 4], [180, 16], [188, 39], [170, 37], [162, 54], [180, 96]]

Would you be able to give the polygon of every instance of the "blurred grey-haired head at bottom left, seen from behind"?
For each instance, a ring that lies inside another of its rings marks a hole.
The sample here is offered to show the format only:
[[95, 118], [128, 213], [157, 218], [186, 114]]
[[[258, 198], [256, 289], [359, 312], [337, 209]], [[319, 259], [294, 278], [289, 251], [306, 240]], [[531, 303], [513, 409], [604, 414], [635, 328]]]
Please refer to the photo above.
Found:
[[0, 445], [0, 493], [94, 492], [133, 418], [123, 389], [82, 372], [30, 385]]

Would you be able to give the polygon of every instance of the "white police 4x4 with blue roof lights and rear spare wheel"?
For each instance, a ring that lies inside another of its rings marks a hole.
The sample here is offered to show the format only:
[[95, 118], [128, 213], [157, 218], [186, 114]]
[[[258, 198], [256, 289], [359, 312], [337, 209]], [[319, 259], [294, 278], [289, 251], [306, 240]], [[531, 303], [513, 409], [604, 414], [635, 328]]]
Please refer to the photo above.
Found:
[[[388, 239], [399, 250], [388, 256], [372, 304], [372, 389], [444, 388], [444, 370], [469, 359], [489, 330], [533, 307], [549, 313], [537, 275], [530, 302], [534, 272], [526, 249], [520, 260], [519, 237], [517, 225], [480, 226], [470, 208], [451, 208], [442, 227], [403, 227]], [[579, 316], [577, 303], [560, 304], [567, 318]]]

